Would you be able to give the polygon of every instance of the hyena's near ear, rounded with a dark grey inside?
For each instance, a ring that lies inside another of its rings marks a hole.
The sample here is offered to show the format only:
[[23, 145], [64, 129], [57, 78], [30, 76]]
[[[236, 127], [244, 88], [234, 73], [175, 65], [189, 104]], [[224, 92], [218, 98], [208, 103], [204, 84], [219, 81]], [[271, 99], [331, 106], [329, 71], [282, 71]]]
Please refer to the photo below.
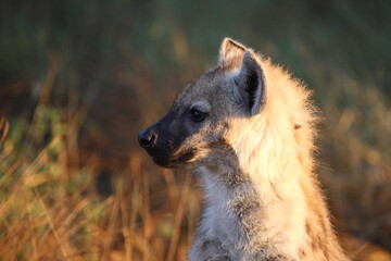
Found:
[[244, 101], [245, 108], [253, 116], [262, 111], [266, 103], [266, 77], [261, 63], [252, 50], [244, 52], [240, 71], [234, 76], [239, 94]]

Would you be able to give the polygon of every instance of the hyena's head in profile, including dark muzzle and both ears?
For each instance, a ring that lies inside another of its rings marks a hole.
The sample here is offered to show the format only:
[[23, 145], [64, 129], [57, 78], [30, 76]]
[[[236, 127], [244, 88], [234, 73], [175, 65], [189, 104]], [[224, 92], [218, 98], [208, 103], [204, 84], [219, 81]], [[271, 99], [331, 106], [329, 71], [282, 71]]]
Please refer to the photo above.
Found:
[[230, 120], [260, 114], [266, 92], [260, 58], [226, 38], [217, 67], [188, 84], [168, 113], [139, 133], [139, 144], [165, 167], [229, 164]]

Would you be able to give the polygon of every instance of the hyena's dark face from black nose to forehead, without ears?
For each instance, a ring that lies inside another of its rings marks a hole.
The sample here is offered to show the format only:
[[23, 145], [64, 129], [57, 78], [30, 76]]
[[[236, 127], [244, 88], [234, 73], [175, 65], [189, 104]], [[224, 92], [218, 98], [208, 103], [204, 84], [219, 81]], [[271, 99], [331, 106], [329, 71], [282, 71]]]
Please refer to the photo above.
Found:
[[190, 83], [163, 119], [139, 133], [140, 146], [156, 164], [175, 167], [192, 162], [222, 139], [227, 126], [214, 99], [224, 91], [220, 74], [217, 69]]

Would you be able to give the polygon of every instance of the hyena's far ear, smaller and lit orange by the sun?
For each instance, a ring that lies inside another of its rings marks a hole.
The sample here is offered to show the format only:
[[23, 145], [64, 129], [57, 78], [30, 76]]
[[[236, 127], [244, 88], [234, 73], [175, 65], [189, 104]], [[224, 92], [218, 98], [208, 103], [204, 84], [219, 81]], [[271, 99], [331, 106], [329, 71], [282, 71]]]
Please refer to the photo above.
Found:
[[237, 65], [239, 66], [244, 52], [245, 52], [244, 46], [230, 38], [225, 38], [223, 40], [218, 55], [218, 65], [223, 65], [224, 63], [237, 62], [238, 63]]

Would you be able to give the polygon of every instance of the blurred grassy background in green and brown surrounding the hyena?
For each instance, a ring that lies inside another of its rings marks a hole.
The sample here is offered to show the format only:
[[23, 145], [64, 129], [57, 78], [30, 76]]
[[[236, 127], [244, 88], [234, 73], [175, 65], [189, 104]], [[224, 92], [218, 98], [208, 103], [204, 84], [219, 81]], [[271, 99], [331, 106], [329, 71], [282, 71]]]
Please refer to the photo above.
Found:
[[387, 0], [0, 1], [0, 260], [186, 260], [202, 188], [137, 134], [226, 36], [314, 90], [343, 247], [391, 260]]

